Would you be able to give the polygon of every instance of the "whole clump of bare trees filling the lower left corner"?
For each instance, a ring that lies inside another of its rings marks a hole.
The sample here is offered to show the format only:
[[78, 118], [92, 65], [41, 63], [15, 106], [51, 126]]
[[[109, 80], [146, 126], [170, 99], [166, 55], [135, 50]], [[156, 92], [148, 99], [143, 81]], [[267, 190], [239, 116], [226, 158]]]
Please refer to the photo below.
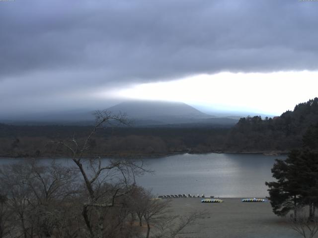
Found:
[[75, 178], [73, 170], [55, 162], [43, 166], [27, 160], [2, 166], [0, 189], [7, 193], [5, 208], [14, 237], [51, 237], [60, 228], [62, 214], [68, 213], [63, 210], [66, 199], [78, 193]]

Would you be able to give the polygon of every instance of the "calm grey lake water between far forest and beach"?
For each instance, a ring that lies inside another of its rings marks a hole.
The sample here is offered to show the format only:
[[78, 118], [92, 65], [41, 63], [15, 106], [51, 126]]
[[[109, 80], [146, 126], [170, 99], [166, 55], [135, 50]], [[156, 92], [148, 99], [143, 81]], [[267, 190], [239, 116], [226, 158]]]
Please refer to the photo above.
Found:
[[[216, 197], [265, 197], [265, 181], [272, 181], [271, 168], [275, 159], [286, 156], [261, 154], [182, 154], [143, 159], [155, 171], [137, 178], [137, 183], [157, 195], [205, 194]], [[0, 165], [22, 159], [0, 159]], [[108, 159], [103, 159], [107, 162]], [[52, 159], [41, 159], [50, 163]], [[56, 159], [73, 165], [70, 159]]]

